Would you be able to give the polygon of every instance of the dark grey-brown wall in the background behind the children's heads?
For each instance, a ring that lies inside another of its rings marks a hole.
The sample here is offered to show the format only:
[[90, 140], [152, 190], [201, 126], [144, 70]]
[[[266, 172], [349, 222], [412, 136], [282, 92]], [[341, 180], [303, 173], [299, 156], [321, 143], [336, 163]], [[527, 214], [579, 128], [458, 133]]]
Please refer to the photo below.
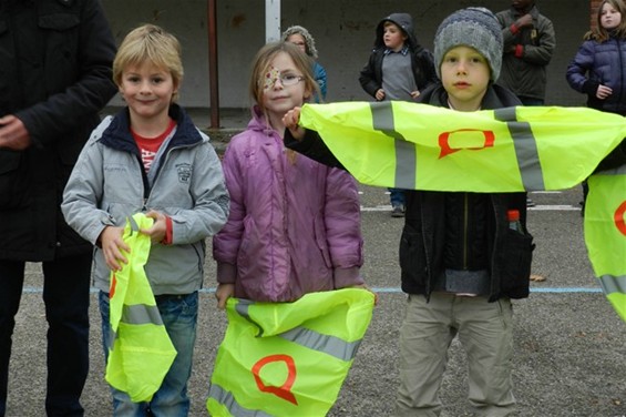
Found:
[[[181, 103], [208, 108], [207, 0], [102, 0], [117, 42], [144, 22], [178, 37], [184, 48], [185, 80]], [[441, 0], [283, 0], [281, 27], [306, 27], [316, 39], [328, 72], [328, 101], [369, 100], [358, 74], [371, 51], [374, 27], [394, 11], [411, 13], [420, 42], [432, 50], [437, 27], [450, 12], [483, 6], [506, 9], [510, 1]], [[589, 0], [537, 1], [554, 23], [557, 49], [548, 67], [547, 104], [584, 105], [584, 96], [565, 81], [565, 69], [589, 28]], [[566, 12], [564, 12], [566, 11]], [[249, 64], [265, 43], [265, 0], [217, 0], [220, 108], [247, 108]], [[112, 105], [122, 102], [114, 99]]]

